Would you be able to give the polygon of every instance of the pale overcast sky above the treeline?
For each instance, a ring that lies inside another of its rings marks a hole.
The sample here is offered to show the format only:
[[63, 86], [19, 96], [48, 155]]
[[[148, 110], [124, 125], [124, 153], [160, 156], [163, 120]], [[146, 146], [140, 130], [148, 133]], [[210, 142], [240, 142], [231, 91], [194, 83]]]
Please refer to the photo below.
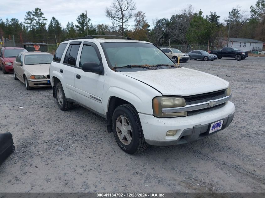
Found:
[[[109, 7], [112, 0], [8, 0], [4, 6], [0, 6], [0, 18], [17, 18], [19, 22], [24, 22], [26, 12], [41, 8], [44, 16], [50, 19], [54, 16], [60, 21], [63, 27], [66, 27], [68, 22], [76, 22], [76, 18], [80, 13], [85, 13], [91, 18], [91, 23], [111, 24], [109, 18], [105, 16], [105, 8]], [[249, 13], [250, 6], [255, 5], [256, 0], [189, 0], [189, 1], [161, 1], [161, 0], [135, 0], [136, 10], [146, 13], [146, 18], [151, 24], [154, 18], [170, 18], [173, 14], [180, 12], [185, 6], [191, 4], [194, 12], [203, 11], [203, 15], [209, 15], [211, 12], [216, 12], [221, 16], [221, 22], [227, 17], [232, 8], [240, 5], [242, 10]], [[130, 22], [133, 25], [133, 20]]]

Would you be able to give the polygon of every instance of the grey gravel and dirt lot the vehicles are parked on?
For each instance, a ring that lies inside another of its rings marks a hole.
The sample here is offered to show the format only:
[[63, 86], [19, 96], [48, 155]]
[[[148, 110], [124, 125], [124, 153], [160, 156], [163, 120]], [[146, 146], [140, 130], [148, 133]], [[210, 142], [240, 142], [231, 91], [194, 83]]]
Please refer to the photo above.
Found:
[[1, 72], [0, 129], [16, 150], [0, 167], [0, 192], [264, 192], [265, 57], [181, 66], [230, 82], [234, 120], [202, 140], [138, 155], [119, 149], [105, 119], [78, 105], [61, 111], [51, 88], [28, 91]]

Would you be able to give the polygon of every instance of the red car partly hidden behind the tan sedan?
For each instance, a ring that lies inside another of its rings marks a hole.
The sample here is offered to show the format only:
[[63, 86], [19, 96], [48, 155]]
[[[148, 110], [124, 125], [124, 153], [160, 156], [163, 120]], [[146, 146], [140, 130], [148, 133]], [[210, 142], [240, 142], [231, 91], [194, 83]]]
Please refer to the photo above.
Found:
[[13, 72], [13, 62], [20, 52], [27, 52], [24, 48], [2, 47], [0, 50], [0, 70], [4, 74]]

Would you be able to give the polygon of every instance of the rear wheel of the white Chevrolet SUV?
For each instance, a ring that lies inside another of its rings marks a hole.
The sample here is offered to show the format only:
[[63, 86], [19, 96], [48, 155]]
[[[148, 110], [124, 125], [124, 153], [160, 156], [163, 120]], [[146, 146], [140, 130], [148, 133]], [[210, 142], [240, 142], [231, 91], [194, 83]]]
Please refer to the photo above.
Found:
[[73, 107], [73, 103], [67, 101], [61, 83], [56, 84], [55, 94], [57, 105], [61, 110], [68, 111]]

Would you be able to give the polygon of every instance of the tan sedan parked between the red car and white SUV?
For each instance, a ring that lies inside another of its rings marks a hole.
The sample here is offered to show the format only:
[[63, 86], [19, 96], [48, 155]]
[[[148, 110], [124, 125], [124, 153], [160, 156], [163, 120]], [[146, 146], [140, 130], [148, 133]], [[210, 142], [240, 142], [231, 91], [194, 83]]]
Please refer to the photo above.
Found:
[[20, 80], [26, 89], [50, 87], [50, 63], [53, 55], [47, 52], [22, 52], [13, 63], [14, 79]]

